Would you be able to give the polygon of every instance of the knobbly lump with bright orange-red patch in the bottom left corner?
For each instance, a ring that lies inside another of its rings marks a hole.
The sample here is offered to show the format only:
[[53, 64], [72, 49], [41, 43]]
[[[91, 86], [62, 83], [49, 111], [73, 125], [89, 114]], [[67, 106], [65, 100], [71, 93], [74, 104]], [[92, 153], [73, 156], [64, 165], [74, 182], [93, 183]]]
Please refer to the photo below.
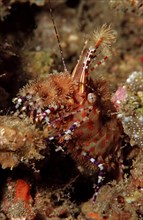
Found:
[[9, 179], [3, 197], [1, 209], [7, 213], [9, 219], [29, 220], [34, 218], [29, 183], [22, 179], [18, 179], [16, 182]]

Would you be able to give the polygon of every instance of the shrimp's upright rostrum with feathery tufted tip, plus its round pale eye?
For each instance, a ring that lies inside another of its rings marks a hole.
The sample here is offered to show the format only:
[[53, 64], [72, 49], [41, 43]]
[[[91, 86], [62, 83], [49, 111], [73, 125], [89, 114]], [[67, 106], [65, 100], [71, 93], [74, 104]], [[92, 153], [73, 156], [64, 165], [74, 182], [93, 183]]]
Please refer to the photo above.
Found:
[[78, 84], [76, 97], [82, 104], [87, 96], [89, 103], [94, 103], [96, 97], [94, 93], [87, 94], [86, 87], [88, 87], [88, 78], [90, 72], [95, 70], [99, 65], [102, 65], [111, 55], [111, 45], [116, 40], [116, 32], [112, 30], [111, 26], [104, 24], [101, 29], [97, 29], [90, 35], [89, 39], [85, 41], [84, 48], [81, 52], [80, 58], [72, 72], [73, 80]]

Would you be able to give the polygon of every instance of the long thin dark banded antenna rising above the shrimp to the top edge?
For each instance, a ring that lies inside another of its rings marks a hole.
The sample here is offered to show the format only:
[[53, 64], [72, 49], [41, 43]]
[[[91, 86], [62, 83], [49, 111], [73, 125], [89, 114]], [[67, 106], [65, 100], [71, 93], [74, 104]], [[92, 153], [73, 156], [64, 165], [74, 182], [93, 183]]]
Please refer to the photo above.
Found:
[[66, 67], [66, 64], [65, 64], [64, 56], [63, 56], [63, 50], [62, 50], [59, 34], [58, 34], [58, 31], [57, 31], [57, 28], [56, 28], [56, 24], [55, 24], [55, 21], [54, 21], [53, 10], [52, 10], [52, 7], [51, 7], [51, 1], [50, 0], [49, 0], [49, 10], [50, 10], [50, 15], [51, 15], [53, 27], [54, 27], [54, 30], [55, 30], [55, 33], [56, 33], [56, 38], [57, 38], [60, 53], [61, 53], [61, 58], [62, 58], [63, 66], [64, 66], [64, 71], [67, 72], [67, 67]]

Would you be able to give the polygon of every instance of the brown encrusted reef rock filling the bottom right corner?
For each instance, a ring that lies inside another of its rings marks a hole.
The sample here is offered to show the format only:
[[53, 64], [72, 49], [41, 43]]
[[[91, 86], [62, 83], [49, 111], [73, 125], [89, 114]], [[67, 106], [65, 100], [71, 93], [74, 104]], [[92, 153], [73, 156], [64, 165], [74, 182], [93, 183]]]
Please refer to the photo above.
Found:
[[89, 219], [90, 213], [93, 213], [92, 216], [94, 216], [94, 213], [95, 216], [98, 213], [99, 219], [142, 219], [142, 153], [141, 150], [133, 163], [131, 176], [129, 178], [125, 177], [119, 183], [114, 181], [103, 186], [95, 204], [92, 200], [89, 200], [81, 207], [83, 216], [87, 216], [86, 218]]

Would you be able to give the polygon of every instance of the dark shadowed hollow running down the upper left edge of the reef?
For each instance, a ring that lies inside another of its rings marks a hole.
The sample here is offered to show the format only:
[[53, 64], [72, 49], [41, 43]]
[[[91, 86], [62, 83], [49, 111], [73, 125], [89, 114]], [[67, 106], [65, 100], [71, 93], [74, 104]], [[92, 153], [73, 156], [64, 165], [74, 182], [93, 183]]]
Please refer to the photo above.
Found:
[[35, 5], [13, 4], [11, 13], [0, 21], [0, 107], [3, 109], [28, 81], [21, 53], [36, 28], [38, 11]]

